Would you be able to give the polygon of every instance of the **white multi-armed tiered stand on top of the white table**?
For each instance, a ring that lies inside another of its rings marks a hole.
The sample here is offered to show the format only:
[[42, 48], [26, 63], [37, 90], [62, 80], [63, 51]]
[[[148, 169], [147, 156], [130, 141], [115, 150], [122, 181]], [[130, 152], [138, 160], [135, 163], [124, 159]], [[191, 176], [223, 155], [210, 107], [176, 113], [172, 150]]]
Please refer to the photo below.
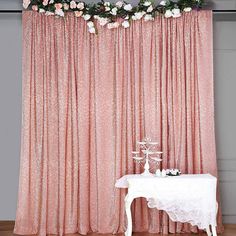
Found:
[[[139, 146], [140, 151], [133, 151], [133, 159], [138, 162], [142, 163], [145, 162], [144, 165], [144, 172], [141, 174], [143, 176], [153, 176], [152, 173], [150, 173], [150, 164], [149, 162], [154, 162], [157, 165], [162, 161], [160, 158], [161, 154], [163, 152], [156, 151], [156, 148], [158, 146], [158, 142], [153, 142], [150, 138], [145, 138], [142, 141], [137, 142], [137, 146]], [[143, 156], [141, 154], [143, 153]]]

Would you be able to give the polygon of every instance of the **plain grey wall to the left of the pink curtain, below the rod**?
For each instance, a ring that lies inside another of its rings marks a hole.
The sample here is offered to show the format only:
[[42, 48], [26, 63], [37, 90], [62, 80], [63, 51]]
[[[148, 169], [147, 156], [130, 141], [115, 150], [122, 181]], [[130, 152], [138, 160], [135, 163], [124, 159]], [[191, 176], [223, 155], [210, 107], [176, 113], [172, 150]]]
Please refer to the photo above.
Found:
[[15, 218], [21, 126], [21, 15], [0, 14], [0, 220]]

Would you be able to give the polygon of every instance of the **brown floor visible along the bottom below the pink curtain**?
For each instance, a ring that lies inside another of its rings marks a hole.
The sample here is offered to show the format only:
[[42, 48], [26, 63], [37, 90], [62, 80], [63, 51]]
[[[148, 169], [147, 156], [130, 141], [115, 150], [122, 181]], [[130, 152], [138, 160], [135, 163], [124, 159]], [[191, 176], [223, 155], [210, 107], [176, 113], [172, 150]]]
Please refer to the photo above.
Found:
[[[0, 236], [16, 236], [13, 234], [12, 230], [14, 227], [13, 221], [2, 221], [0, 222]], [[133, 236], [159, 236], [160, 234], [149, 234], [149, 233], [134, 233]], [[169, 234], [169, 236], [205, 236], [206, 234]], [[67, 236], [80, 236], [79, 234], [70, 234]], [[112, 234], [89, 234], [88, 236], [113, 236]], [[117, 236], [123, 236], [119, 234]], [[167, 236], [167, 235], [165, 235]], [[236, 236], [236, 225], [225, 225], [224, 233], [221, 236]]]

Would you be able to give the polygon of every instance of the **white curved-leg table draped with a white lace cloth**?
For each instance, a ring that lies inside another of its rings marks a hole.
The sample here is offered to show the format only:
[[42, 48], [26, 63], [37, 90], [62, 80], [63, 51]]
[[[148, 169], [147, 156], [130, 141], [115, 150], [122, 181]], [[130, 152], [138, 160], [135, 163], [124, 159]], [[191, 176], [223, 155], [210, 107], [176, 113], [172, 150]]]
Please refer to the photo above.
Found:
[[[164, 210], [174, 222], [190, 223], [204, 229], [207, 235], [216, 234], [216, 185], [210, 174], [175, 177], [146, 177], [125, 175], [116, 182], [117, 188], [128, 188], [125, 211], [128, 219], [126, 236], [132, 235], [131, 204], [144, 197], [148, 207]], [[212, 234], [210, 230], [212, 229]]]

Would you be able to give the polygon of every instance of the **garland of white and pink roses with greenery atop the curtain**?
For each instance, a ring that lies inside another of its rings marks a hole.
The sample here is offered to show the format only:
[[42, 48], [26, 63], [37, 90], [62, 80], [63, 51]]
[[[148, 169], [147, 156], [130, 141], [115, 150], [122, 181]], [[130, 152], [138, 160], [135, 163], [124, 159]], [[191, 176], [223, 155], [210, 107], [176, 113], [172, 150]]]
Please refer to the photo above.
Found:
[[[152, 0], [140, 0], [138, 5], [118, 1], [111, 3], [101, 1], [87, 4], [76, 0], [24, 0], [23, 7], [46, 15], [64, 17], [65, 12], [74, 12], [76, 17], [83, 17], [87, 21], [90, 33], [96, 33], [94, 21], [97, 20], [101, 26], [109, 29], [122, 26], [128, 28], [132, 20], [151, 21], [158, 15], [166, 18], [180, 17], [182, 12], [190, 12], [193, 9], [200, 9], [204, 0], [162, 0], [154, 4]], [[123, 21], [119, 23], [118, 18]]]

